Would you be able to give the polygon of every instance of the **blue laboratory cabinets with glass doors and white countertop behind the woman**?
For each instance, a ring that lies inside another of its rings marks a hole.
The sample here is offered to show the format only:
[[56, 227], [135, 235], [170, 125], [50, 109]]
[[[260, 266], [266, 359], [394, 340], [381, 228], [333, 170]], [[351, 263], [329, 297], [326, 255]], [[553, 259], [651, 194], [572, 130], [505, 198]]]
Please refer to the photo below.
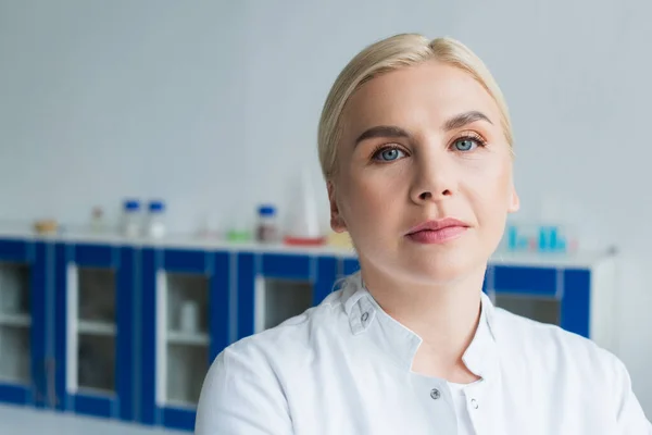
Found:
[[[226, 346], [318, 304], [358, 270], [328, 247], [0, 231], [0, 401], [192, 431]], [[482, 290], [613, 349], [615, 278], [612, 254], [501, 254]]]

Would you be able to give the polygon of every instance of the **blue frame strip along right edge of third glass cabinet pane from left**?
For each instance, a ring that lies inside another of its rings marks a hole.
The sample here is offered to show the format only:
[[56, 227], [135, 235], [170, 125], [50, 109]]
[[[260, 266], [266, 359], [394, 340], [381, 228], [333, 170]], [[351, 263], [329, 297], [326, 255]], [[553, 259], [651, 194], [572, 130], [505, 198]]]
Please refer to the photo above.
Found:
[[209, 322], [211, 348], [209, 351], [209, 365], [215, 357], [229, 345], [229, 272], [230, 256], [228, 252], [211, 254], [213, 274], [210, 279]]

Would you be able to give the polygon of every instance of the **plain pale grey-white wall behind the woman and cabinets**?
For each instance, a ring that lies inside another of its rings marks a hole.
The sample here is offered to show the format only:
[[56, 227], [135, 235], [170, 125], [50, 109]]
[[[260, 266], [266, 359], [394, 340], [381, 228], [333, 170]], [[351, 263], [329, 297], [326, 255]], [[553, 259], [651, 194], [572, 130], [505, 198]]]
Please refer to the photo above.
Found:
[[523, 214], [556, 196], [588, 241], [620, 247], [617, 353], [652, 415], [651, 14], [647, 0], [0, 0], [0, 219], [84, 222], [161, 196], [186, 232], [285, 206], [300, 165], [321, 179], [317, 119], [350, 57], [393, 33], [451, 35], [505, 92]]

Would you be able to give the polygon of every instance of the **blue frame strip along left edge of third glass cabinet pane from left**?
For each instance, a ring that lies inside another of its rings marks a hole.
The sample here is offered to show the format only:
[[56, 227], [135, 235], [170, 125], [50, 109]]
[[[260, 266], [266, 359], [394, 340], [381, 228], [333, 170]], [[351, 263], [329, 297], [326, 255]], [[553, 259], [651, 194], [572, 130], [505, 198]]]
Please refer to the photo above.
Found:
[[140, 421], [155, 423], [156, 402], [156, 251], [142, 250], [142, 366]]

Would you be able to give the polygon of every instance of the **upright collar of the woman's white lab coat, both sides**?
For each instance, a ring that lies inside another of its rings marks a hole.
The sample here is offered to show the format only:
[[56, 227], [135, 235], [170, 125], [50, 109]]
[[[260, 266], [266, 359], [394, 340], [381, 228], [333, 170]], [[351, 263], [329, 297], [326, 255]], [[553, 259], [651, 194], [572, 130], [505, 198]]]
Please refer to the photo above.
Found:
[[[387, 314], [362, 282], [359, 273], [350, 276], [343, 287], [343, 307], [354, 335], [369, 334], [381, 350], [396, 358], [410, 371], [422, 338]], [[494, 308], [481, 294], [480, 321], [462, 360], [474, 374], [485, 380], [498, 373], [498, 352], [493, 326]]]

